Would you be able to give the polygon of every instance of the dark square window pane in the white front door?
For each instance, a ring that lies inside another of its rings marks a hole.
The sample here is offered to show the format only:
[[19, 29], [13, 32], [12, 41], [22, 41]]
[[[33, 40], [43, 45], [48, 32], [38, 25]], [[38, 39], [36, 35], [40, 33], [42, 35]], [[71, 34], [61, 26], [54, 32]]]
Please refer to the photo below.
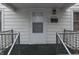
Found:
[[42, 22], [33, 22], [32, 23], [32, 32], [33, 33], [43, 33], [43, 23]]

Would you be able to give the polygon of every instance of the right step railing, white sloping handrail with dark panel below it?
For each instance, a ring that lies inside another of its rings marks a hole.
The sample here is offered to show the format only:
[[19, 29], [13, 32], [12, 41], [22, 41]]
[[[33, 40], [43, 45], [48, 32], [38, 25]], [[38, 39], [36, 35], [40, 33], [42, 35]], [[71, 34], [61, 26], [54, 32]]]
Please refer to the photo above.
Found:
[[63, 42], [63, 39], [61, 38], [59, 33], [56, 33], [56, 54], [68, 54], [71, 55], [68, 47]]

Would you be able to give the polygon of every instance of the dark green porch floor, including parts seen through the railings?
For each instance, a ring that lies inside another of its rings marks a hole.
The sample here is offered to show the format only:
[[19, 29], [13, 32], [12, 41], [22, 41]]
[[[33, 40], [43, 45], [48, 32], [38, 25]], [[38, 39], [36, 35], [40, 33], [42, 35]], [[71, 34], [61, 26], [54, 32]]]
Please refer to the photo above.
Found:
[[[20, 45], [20, 55], [56, 55], [67, 54], [66, 50], [58, 49], [56, 52], [56, 44], [33, 44], [33, 45]], [[18, 55], [17, 46], [15, 46], [11, 52], [11, 55]]]

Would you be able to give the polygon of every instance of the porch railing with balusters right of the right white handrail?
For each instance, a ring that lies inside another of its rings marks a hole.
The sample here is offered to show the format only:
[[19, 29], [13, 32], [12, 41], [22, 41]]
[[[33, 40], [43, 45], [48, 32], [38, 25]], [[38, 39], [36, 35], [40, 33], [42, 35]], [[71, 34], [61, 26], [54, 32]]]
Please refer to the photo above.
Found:
[[73, 50], [72, 54], [79, 53], [79, 32], [72, 30], [64, 30], [63, 33], [59, 33], [63, 42]]

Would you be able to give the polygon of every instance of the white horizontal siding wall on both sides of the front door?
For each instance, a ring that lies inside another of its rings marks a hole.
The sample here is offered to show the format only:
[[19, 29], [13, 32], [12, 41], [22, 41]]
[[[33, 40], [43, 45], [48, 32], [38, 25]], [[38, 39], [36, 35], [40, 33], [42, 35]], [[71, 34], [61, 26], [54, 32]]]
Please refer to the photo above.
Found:
[[[16, 32], [20, 32], [21, 34], [21, 44], [31, 44], [30, 43], [30, 20], [32, 19], [31, 12], [33, 10], [43, 10], [46, 14], [47, 19], [47, 39], [45, 40], [46, 44], [51, 44], [56, 42], [56, 32], [61, 32], [64, 29], [73, 30], [73, 14], [72, 9], [78, 9], [79, 4], [75, 4], [71, 8], [67, 10], [58, 9], [58, 23], [50, 23], [51, 16], [51, 8], [28, 8], [22, 9], [17, 12], [12, 11], [11, 9], [0, 4], [0, 7], [3, 9], [3, 22], [2, 22], [2, 30], [14, 29]], [[43, 44], [40, 43], [40, 44]], [[38, 44], [38, 43], [32, 43]]]

